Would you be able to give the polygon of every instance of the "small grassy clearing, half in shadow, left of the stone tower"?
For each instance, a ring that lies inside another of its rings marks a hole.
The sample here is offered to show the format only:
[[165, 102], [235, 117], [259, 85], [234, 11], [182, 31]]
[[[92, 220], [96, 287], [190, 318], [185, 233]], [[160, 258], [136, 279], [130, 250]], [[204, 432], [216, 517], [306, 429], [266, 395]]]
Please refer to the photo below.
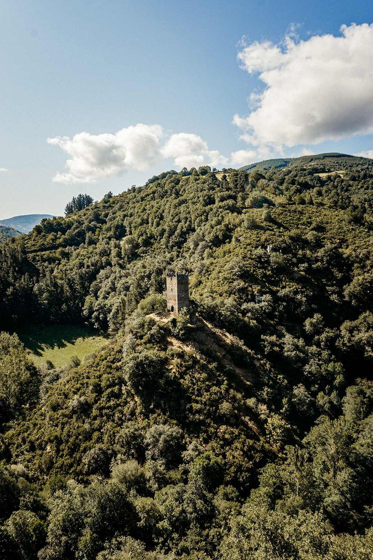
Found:
[[50, 360], [55, 367], [63, 367], [73, 356], [83, 360], [108, 340], [92, 329], [74, 325], [34, 325], [19, 330], [17, 334], [29, 349], [36, 366]]

